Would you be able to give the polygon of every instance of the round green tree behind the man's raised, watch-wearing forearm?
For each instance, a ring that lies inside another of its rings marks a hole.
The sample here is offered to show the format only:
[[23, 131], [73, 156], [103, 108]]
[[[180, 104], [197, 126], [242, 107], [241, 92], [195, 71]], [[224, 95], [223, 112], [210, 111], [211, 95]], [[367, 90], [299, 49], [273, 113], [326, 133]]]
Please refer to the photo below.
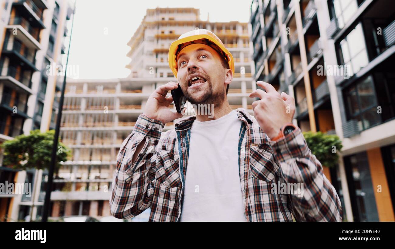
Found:
[[327, 135], [322, 132], [303, 132], [307, 146], [311, 153], [323, 166], [335, 167], [339, 160], [339, 152], [342, 149], [342, 141], [336, 135]]

